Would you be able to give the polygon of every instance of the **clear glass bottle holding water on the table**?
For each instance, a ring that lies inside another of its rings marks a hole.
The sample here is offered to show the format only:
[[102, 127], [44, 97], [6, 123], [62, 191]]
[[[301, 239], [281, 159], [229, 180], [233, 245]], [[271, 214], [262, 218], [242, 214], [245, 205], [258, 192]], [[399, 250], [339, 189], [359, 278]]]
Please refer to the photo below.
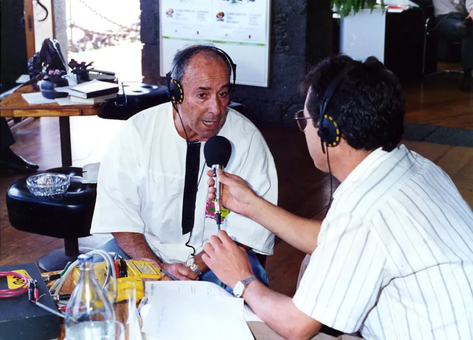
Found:
[[115, 339], [115, 314], [107, 294], [95, 278], [92, 255], [79, 255], [81, 276], [67, 303], [67, 340]]

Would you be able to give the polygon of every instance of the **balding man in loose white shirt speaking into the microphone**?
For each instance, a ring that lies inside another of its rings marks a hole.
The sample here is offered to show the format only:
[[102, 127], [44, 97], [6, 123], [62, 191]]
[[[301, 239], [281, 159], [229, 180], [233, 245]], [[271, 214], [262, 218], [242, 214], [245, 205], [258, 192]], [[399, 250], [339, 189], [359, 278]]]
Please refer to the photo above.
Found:
[[[205, 141], [217, 134], [232, 144], [226, 168], [277, 204], [276, 169], [263, 136], [227, 107], [232, 65], [213, 46], [178, 52], [171, 81], [182, 85], [183, 101], [151, 107], [124, 124], [100, 165], [91, 233], [114, 237], [102, 249], [151, 259], [178, 279], [202, 273], [201, 280], [220, 283], [201, 260], [203, 244], [217, 233], [203, 155]], [[231, 211], [222, 213], [221, 228], [247, 248], [253, 270], [268, 284], [255, 252], [272, 255], [274, 235]]]

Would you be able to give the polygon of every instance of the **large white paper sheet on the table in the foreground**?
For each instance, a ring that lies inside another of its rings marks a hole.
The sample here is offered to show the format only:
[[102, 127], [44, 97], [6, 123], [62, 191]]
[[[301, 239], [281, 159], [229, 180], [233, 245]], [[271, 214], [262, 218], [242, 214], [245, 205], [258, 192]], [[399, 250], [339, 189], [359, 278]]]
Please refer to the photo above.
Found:
[[[142, 330], [146, 336], [149, 334], [156, 339], [254, 339], [243, 318], [243, 299], [205, 296], [198, 293], [200, 287], [189, 290], [190, 286], [179, 283], [170, 282], [154, 289], [149, 310], [143, 318]], [[198, 287], [199, 283], [202, 282], [194, 282], [193, 287]], [[181, 287], [175, 289], [173, 286]]]

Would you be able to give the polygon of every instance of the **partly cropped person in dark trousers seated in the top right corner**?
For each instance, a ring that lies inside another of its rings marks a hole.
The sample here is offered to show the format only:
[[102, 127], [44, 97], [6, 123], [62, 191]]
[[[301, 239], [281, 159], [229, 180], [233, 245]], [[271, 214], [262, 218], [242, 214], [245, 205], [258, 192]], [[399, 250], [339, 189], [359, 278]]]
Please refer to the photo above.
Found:
[[460, 90], [473, 89], [473, 0], [433, 0], [440, 38], [461, 40], [463, 80]]

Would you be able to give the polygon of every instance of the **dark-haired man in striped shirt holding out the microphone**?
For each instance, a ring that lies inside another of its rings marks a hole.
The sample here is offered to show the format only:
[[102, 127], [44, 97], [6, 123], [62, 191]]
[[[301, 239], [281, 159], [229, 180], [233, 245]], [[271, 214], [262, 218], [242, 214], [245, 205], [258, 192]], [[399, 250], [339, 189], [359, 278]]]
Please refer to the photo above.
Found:
[[367, 339], [472, 339], [473, 212], [442, 169], [400, 144], [399, 81], [375, 58], [334, 56], [305, 85], [297, 122], [316, 167], [341, 182], [326, 218], [295, 216], [218, 173], [226, 207], [311, 254], [294, 297], [245, 280], [246, 253], [223, 231], [203, 261], [286, 338], [325, 324]]

